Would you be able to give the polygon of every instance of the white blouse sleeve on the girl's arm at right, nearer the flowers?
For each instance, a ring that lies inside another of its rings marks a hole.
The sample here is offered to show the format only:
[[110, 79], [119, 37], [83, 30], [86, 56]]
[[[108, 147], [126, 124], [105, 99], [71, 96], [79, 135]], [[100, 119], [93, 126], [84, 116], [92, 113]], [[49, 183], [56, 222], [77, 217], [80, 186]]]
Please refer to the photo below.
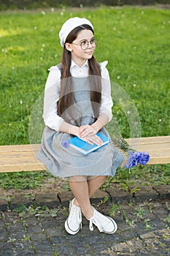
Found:
[[109, 117], [109, 121], [112, 119], [112, 96], [111, 96], [111, 83], [109, 79], [109, 72], [106, 68], [108, 61], [101, 63], [101, 107], [99, 114], [105, 113]]

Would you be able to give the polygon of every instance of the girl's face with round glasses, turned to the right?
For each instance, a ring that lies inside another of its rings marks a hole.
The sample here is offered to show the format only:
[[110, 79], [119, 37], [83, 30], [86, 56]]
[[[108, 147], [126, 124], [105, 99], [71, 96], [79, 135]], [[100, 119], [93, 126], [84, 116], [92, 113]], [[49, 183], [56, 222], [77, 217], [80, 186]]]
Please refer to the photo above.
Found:
[[[83, 29], [77, 34], [77, 38], [74, 39], [72, 43], [66, 43], [66, 49], [71, 51], [72, 60], [78, 65], [82, 66], [87, 59], [91, 59], [93, 56], [93, 52], [95, 47], [93, 47], [90, 43], [93, 40], [94, 35], [93, 32], [88, 29]], [[88, 48], [82, 50], [81, 43], [84, 44], [85, 41], [88, 41]]]

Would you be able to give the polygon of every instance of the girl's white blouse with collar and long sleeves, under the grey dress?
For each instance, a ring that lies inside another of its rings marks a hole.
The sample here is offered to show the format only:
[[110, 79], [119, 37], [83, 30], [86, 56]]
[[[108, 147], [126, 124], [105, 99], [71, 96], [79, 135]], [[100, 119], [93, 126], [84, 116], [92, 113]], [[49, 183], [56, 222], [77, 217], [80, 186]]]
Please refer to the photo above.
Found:
[[[113, 103], [109, 72], [106, 68], [107, 63], [108, 61], [101, 63], [101, 107], [99, 109], [99, 115], [105, 113], [109, 117], [109, 121], [111, 121]], [[44, 112], [42, 117], [47, 127], [59, 132], [63, 121], [63, 118], [58, 116], [57, 109], [57, 102], [60, 97], [61, 71], [57, 66], [50, 67], [49, 70], [50, 72], [45, 85]], [[85, 61], [85, 64], [83, 64], [82, 67], [78, 67], [77, 64], [72, 61], [70, 72], [74, 77], [88, 76], [88, 60]]]

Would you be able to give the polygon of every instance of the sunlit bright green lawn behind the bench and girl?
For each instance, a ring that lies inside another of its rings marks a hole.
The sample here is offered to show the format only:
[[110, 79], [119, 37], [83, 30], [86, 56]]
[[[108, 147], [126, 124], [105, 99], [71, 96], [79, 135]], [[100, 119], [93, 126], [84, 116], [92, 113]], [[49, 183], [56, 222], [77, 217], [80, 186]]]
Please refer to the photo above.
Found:
[[[169, 135], [169, 10], [104, 7], [77, 12], [8, 11], [0, 15], [0, 144], [30, 142], [31, 110], [44, 91], [47, 69], [61, 61], [58, 31], [72, 16], [92, 21], [99, 39], [96, 59], [109, 61], [111, 80], [131, 97], [139, 113], [142, 137]], [[121, 105], [115, 102], [112, 111], [123, 137], [130, 137]], [[108, 129], [112, 136], [112, 123]], [[158, 167], [161, 172], [165, 169]], [[151, 172], [152, 167], [147, 168]], [[4, 174], [1, 178], [5, 182]]]

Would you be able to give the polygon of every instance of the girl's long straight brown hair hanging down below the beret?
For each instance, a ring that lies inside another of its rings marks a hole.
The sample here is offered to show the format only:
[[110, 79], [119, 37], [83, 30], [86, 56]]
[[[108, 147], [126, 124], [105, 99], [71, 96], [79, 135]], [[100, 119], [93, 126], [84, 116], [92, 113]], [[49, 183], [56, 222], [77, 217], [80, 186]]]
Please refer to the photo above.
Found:
[[[82, 29], [88, 29], [93, 32], [93, 29], [84, 24], [82, 26], [77, 26], [77, 28], [73, 29], [69, 35], [66, 37], [66, 42], [72, 43], [74, 39], [77, 38], [77, 34]], [[70, 106], [75, 103], [74, 99], [74, 88], [72, 83], [72, 75], [70, 72], [70, 66], [72, 63], [71, 52], [66, 49], [66, 46], [63, 47], [63, 54], [61, 58], [61, 92], [60, 98], [58, 100], [58, 114], [61, 116], [65, 110], [68, 110]], [[90, 91], [90, 101], [93, 107], [93, 112], [96, 117], [98, 117], [99, 106], [101, 103], [101, 69], [94, 58], [92, 56], [91, 59], [88, 60], [89, 66], [89, 82], [93, 85], [93, 89]], [[69, 79], [66, 79], [69, 78]], [[99, 104], [95, 104], [99, 103]], [[98, 106], [98, 107], [96, 107]], [[64, 118], [64, 117], [63, 117]], [[66, 120], [68, 121], [68, 120]]]

